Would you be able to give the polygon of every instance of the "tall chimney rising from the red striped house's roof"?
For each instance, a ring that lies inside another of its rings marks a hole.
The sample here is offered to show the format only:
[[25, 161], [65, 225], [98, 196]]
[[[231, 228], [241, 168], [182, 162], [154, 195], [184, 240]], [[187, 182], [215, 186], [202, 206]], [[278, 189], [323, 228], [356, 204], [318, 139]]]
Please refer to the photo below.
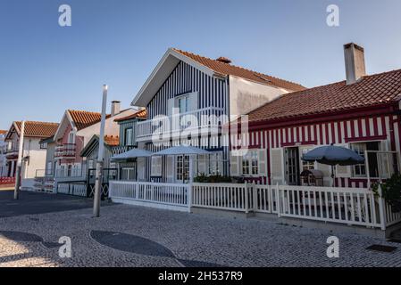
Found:
[[344, 57], [346, 60], [347, 85], [354, 84], [366, 75], [363, 47], [354, 43], [344, 45]]

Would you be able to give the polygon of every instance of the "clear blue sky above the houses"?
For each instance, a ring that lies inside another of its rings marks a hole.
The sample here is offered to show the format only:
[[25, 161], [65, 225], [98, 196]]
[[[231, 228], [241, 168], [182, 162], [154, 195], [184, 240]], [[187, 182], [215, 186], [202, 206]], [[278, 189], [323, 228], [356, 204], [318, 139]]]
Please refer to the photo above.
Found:
[[[58, 24], [61, 4], [71, 27]], [[326, 24], [329, 4], [337, 28]], [[104, 83], [109, 101], [128, 107], [169, 47], [311, 87], [345, 78], [351, 41], [368, 73], [401, 69], [401, 1], [0, 0], [0, 129], [98, 111]]]

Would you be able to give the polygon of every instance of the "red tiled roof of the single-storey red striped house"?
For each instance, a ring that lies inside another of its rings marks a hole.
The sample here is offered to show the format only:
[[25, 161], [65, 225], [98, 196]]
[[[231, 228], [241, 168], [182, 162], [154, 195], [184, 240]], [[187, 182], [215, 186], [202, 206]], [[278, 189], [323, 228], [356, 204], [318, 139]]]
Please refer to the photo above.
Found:
[[365, 76], [352, 85], [346, 81], [284, 94], [251, 111], [249, 121], [328, 113], [396, 102], [401, 97], [401, 69]]

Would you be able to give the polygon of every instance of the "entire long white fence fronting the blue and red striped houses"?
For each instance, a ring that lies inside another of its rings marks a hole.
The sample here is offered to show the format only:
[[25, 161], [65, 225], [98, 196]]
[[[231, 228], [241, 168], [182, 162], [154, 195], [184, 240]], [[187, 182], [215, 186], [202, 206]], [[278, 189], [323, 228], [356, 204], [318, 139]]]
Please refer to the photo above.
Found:
[[386, 234], [401, 222], [384, 199], [365, 188], [254, 183], [144, 183], [111, 181], [114, 202], [186, 212], [219, 210], [281, 220], [342, 224]]

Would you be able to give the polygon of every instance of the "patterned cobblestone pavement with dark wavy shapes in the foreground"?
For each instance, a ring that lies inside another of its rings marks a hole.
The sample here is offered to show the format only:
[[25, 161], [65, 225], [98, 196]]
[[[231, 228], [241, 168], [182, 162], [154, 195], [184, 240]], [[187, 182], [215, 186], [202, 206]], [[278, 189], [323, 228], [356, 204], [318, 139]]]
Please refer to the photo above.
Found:
[[[90, 208], [0, 218], [0, 266], [401, 266], [401, 244], [356, 234], [336, 234], [339, 257], [328, 258], [330, 235], [253, 218], [114, 205], [100, 218]], [[61, 236], [71, 237], [71, 258], [58, 256]], [[372, 244], [397, 249], [365, 249]]]

